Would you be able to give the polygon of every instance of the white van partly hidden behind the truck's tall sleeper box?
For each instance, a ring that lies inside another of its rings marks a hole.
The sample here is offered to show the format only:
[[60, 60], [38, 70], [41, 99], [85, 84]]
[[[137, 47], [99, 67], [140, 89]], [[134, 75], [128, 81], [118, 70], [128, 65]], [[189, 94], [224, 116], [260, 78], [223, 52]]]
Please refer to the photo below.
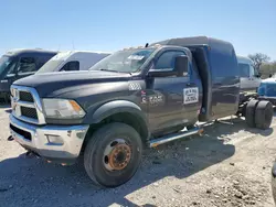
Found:
[[253, 66], [253, 61], [248, 57], [237, 56], [237, 64], [241, 73], [241, 90], [243, 92], [257, 92], [262, 79]]

